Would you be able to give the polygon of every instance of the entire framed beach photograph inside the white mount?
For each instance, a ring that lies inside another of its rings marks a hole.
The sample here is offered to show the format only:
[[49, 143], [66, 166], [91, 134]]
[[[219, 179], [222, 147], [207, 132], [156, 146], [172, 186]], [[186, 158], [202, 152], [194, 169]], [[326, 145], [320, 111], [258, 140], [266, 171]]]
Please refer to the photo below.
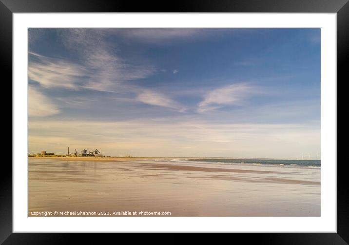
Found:
[[28, 28], [27, 55], [29, 217], [321, 216], [321, 28]]

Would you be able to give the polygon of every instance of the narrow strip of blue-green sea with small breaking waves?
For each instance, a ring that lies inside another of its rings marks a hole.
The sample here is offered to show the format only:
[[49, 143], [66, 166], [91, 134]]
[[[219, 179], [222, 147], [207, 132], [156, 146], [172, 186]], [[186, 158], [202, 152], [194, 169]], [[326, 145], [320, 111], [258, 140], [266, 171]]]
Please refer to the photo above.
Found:
[[193, 163], [227, 163], [227, 164], [248, 164], [248, 165], [274, 165], [286, 167], [310, 167], [320, 168], [320, 160], [284, 160], [284, 159], [228, 159], [228, 158], [188, 158], [172, 159], [172, 162], [193, 162]]

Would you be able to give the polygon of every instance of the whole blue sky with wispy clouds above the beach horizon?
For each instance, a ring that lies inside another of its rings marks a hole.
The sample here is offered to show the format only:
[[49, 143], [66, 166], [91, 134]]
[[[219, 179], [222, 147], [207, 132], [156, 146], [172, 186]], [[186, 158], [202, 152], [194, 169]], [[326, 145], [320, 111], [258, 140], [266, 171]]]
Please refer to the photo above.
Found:
[[29, 153], [320, 155], [320, 29], [28, 32]]

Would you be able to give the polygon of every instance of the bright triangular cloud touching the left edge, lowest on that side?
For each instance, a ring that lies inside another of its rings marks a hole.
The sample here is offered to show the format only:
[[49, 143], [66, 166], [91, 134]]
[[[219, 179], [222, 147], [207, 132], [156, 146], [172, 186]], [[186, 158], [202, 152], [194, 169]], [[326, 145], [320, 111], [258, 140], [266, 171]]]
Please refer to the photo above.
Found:
[[32, 117], [46, 117], [58, 114], [58, 107], [32, 86], [28, 87], [28, 114]]

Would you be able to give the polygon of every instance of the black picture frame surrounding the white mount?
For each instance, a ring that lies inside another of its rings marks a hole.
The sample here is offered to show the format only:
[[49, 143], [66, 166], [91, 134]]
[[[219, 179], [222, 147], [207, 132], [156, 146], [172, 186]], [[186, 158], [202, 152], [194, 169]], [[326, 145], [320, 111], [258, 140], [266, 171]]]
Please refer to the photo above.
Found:
[[[267, 13], [337, 13], [337, 80], [348, 78], [346, 58], [349, 53], [348, 0], [177, 0], [133, 1], [115, 0], [0, 0], [0, 69], [12, 81], [12, 14], [39, 12], [267, 12]], [[336, 81], [333, 81], [336, 82]], [[338, 86], [338, 82], [337, 82]], [[338, 89], [337, 89], [338, 90]], [[338, 120], [338, 117], [337, 117]], [[338, 121], [337, 121], [338, 122]], [[338, 123], [337, 123], [338, 125]], [[14, 151], [14, 149], [12, 149]], [[338, 152], [338, 150], [337, 150]], [[333, 163], [335, 164], [335, 163]], [[2, 164], [0, 178], [0, 244], [66, 244], [72, 234], [12, 233], [12, 166]], [[349, 185], [345, 161], [337, 164], [337, 233], [234, 234], [249, 244], [348, 244]], [[79, 239], [82, 239], [79, 237]], [[84, 235], [94, 243], [91, 235]], [[80, 241], [82, 242], [82, 241]], [[97, 240], [96, 243], [100, 243]]]

